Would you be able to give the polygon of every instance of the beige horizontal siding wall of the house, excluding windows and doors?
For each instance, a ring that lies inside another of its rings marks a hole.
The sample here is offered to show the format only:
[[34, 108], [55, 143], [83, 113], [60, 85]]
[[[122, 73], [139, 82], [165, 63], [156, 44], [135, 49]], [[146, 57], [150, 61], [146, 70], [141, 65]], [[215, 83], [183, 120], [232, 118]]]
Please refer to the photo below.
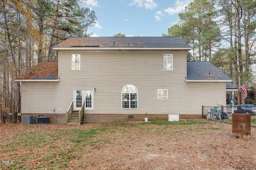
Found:
[[[81, 55], [80, 71], [71, 70], [72, 54]], [[164, 54], [173, 54], [172, 71], [164, 70]], [[94, 87], [94, 110], [86, 113], [201, 115], [202, 105], [226, 103], [225, 83], [185, 82], [186, 51], [59, 51], [59, 77], [22, 82], [22, 113], [66, 113], [74, 89]], [[127, 84], [138, 89], [138, 109], [122, 109]], [[158, 99], [158, 89], [168, 90], [168, 100]]]

